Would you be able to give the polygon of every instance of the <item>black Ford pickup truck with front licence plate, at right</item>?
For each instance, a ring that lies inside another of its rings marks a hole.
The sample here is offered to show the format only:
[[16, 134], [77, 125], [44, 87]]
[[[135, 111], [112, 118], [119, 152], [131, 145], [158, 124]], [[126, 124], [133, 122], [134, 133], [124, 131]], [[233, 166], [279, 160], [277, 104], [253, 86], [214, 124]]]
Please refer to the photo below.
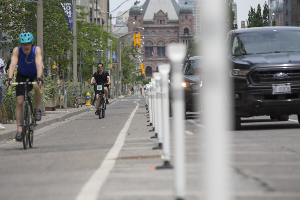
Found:
[[241, 117], [300, 122], [300, 28], [260, 27], [228, 33], [236, 129]]

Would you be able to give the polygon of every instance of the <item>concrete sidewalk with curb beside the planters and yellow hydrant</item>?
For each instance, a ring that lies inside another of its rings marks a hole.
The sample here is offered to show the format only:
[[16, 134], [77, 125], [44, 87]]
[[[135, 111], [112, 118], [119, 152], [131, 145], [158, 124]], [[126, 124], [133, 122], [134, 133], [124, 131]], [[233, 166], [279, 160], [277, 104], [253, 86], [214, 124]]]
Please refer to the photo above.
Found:
[[[110, 103], [113, 103], [115, 101], [116, 99], [110, 99]], [[90, 110], [95, 110], [95, 106], [84, 106], [84, 104], [82, 104], [82, 107], [80, 107], [79, 104], [78, 108], [67, 108], [67, 110], [64, 110], [64, 108], [59, 110], [58, 108], [55, 111], [46, 111], [46, 116], [42, 116], [42, 120], [37, 122], [35, 130], [44, 128], [57, 122], [61, 122], [67, 118], [79, 115], [84, 112], [88, 112]], [[13, 121], [12, 123], [4, 123], [3, 126], [5, 127], [5, 129], [0, 130], [0, 142], [16, 136], [16, 121]]]

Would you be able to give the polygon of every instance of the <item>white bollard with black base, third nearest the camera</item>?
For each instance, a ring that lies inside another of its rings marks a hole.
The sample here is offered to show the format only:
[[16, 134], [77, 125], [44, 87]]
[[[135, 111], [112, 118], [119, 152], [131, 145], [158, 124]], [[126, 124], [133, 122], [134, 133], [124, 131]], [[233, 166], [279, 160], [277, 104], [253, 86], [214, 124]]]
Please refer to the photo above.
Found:
[[170, 64], [161, 64], [158, 66], [158, 71], [161, 74], [161, 94], [162, 94], [162, 115], [163, 115], [163, 166], [157, 166], [156, 169], [171, 169], [170, 164], [170, 109], [169, 109], [169, 84], [168, 75], [170, 73]]

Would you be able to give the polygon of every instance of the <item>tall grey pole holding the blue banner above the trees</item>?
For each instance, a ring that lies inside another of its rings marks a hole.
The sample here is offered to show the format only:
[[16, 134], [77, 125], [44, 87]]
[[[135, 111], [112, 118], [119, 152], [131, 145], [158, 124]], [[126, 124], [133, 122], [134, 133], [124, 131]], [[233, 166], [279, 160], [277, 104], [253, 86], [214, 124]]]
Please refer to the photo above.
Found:
[[76, 0], [73, 0], [73, 82], [77, 83], [77, 17]]

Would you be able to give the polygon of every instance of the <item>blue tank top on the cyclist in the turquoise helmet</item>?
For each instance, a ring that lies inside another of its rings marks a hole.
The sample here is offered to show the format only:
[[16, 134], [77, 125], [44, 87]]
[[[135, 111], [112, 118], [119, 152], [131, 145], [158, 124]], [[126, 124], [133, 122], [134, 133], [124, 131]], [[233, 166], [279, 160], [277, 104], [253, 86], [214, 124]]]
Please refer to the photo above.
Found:
[[37, 46], [32, 46], [31, 52], [29, 55], [26, 55], [21, 46], [18, 46], [19, 49], [19, 60], [18, 60], [18, 73], [23, 76], [32, 76], [37, 73], [37, 67], [35, 65], [35, 48]]

